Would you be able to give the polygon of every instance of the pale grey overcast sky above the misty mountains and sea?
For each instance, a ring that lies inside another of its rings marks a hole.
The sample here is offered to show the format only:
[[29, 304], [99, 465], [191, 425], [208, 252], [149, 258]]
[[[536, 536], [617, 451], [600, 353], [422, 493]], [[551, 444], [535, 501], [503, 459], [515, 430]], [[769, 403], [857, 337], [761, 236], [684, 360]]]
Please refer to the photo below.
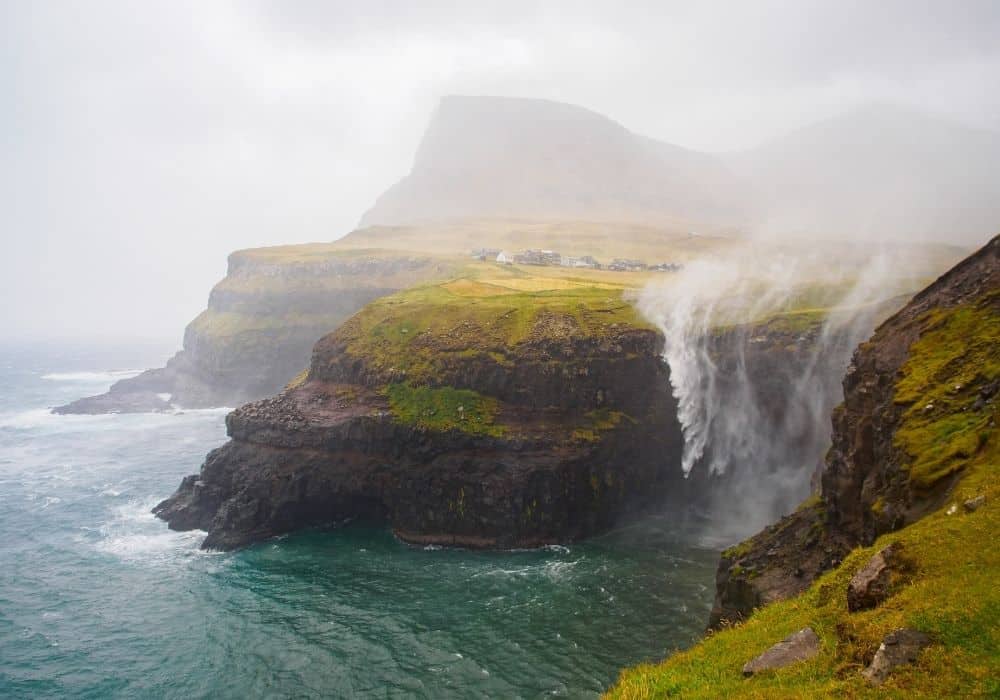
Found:
[[441, 95], [712, 151], [873, 100], [997, 129], [998, 37], [995, 0], [0, 0], [0, 323], [179, 345], [227, 253], [349, 231]]

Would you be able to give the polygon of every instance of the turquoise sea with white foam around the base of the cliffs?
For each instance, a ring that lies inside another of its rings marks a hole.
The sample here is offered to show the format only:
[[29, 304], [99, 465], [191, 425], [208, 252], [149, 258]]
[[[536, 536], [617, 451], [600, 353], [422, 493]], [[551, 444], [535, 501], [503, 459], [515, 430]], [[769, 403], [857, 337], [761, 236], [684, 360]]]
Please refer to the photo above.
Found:
[[46, 411], [154, 361], [0, 350], [2, 698], [590, 697], [704, 628], [717, 551], [665, 519], [535, 551], [348, 525], [201, 552], [149, 509], [225, 410]]

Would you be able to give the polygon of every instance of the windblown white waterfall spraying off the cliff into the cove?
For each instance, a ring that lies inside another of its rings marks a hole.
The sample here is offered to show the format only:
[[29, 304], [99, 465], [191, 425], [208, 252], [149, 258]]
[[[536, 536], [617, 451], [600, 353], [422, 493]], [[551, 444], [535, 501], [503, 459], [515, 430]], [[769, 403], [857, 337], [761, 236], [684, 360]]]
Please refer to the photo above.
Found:
[[707, 506], [723, 538], [808, 495], [851, 354], [893, 308], [876, 302], [912, 288], [885, 261], [838, 267], [818, 253], [749, 249], [696, 261], [640, 296], [666, 339], [681, 467], [712, 482]]

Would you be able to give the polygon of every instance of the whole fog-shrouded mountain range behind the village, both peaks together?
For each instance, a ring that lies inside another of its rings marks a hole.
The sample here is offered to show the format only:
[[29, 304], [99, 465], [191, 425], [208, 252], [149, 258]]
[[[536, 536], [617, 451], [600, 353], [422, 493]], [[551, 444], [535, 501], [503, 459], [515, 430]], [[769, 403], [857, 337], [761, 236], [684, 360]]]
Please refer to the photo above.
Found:
[[713, 155], [573, 105], [451, 96], [361, 225], [505, 217], [977, 245], [1000, 228], [1000, 134], [870, 105]]

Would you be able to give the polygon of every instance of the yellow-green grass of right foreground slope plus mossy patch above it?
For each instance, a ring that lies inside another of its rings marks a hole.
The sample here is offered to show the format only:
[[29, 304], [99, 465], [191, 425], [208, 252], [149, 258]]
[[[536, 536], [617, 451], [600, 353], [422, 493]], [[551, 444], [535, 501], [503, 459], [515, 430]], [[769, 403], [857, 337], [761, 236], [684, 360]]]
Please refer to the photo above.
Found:
[[[951, 474], [948, 504], [871, 547], [852, 552], [802, 595], [756, 611], [744, 624], [710, 635], [661, 664], [625, 671], [613, 698], [648, 697], [996, 697], [1000, 694], [1000, 397], [978, 400], [1000, 379], [1000, 303], [936, 310], [897, 377], [896, 401], [910, 408], [895, 434], [917, 487]], [[974, 512], [959, 506], [985, 497]], [[877, 506], [877, 504], [876, 504]], [[951, 507], [957, 506], [957, 507]], [[882, 605], [847, 610], [851, 576], [891, 542], [912, 570]], [[745, 679], [741, 667], [792, 632], [810, 626], [822, 640], [813, 659]], [[914, 665], [873, 688], [860, 671], [899, 627], [929, 634]]]

